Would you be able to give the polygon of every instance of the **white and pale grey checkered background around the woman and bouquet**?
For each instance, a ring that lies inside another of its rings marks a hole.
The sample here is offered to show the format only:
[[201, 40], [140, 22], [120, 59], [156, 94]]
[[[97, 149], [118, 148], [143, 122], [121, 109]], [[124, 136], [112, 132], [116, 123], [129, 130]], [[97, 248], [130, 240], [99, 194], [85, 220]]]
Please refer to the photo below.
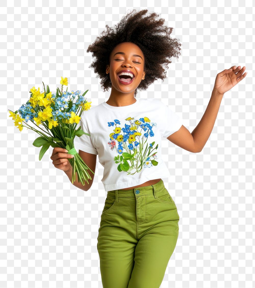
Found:
[[[167, 139], [163, 179], [178, 213], [179, 239], [161, 288], [254, 287], [252, 1], [1, 1], [0, 287], [102, 287], [97, 236], [106, 192], [97, 161], [87, 192], [50, 159], [39, 161], [38, 135], [20, 132], [7, 109], [26, 103], [35, 86], [89, 89], [92, 107], [107, 101], [88, 68], [87, 47], [127, 10], [161, 13], [181, 40], [168, 78], [137, 98], [159, 98], [192, 132], [210, 100], [217, 73], [246, 66], [247, 76], [224, 94], [204, 149], [191, 153]], [[137, 6], [133, 6], [134, 3]], [[131, 5], [132, 6], [129, 6]], [[113, 287], [115, 288], [115, 287]]]

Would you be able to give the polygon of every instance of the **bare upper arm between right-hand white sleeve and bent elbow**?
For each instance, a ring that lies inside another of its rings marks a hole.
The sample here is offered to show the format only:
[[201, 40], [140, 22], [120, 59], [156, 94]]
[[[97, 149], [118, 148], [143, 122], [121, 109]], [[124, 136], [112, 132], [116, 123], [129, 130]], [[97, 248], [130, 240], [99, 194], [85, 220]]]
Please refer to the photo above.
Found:
[[195, 143], [192, 134], [185, 126], [181, 126], [181, 128], [167, 137], [169, 141], [174, 143], [175, 145], [193, 153], [198, 153], [200, 151], [196, 151]]

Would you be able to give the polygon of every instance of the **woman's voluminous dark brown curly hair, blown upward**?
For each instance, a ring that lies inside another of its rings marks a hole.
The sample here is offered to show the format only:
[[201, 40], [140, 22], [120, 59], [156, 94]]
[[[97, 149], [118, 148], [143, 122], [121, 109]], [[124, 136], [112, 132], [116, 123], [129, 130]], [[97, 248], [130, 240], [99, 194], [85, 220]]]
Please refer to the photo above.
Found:
[[[107, 30], [101, 32], [100, 36], [87, 49], [87, 52], [92, 52], [92, 56], [95, 57], [89, 68], [93, 68], [97, 74], [96, 77], [101, 79], [103, 92], [112, 87], [110, 74], [106, 74], [106, 65], [110, 63], [110, 54], [115, 46], [122, 42], [132, 42], [143, 52], [146, 76], [137, 87], [139, 90], [146, 90], [156, 79], [166, 78], [164, 67], [168, 69], [168, 63], [172, 62], [170, 58], [172, 56], [179, 58], [178, 55], [181, 54], [179, 39], [170, 37], [173, 28], [163, 25], [164, 18], [156, 20], [156, 16], [159, 14], [155, 12], [142, 18], [148, 12], [147, 9], [133, 14], [134, 11], [135, 9], [123, 16], [120, 22], [114, 25], [115, 29], [106, 25]], [[135, 97], [137, 89], [135, 89]]]

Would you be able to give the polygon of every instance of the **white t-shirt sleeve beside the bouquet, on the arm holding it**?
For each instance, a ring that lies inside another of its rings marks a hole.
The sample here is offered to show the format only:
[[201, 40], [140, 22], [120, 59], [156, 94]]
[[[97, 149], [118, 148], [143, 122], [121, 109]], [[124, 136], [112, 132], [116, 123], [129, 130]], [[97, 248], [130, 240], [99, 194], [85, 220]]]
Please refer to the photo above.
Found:
[[[86, 125], [84, 124], [84, 122], [82, 121], [82, 119], [80, 120], [80, 122], [76, 126], [76, 129], [78, 129], [80, 126], [81, 126], [81, 129], [85, 133], [89, 133], [88, 129], [87, 129]], [[74, 137], [74, 147], [78, 153], [79, 153], [79, 150], [82, 150], [82, 151], [90, 153], [90, 154], [98, 155], [97, 149], [95, 148], [95, 146], [93, 145], [93, 143], [91, 141], [91, 136], [88, 136], [85, 134], [81, 135], [80, 137], [75, 136]]]

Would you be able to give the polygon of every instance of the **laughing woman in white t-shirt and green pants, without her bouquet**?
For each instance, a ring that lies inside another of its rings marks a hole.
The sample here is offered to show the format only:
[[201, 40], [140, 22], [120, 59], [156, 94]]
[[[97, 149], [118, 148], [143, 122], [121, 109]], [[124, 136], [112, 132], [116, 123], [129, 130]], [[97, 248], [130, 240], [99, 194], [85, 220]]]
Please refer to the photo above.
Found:
[[[133, 10], [134, 11], [134, 10]], [[247, 74], [245, 67], [232, 66], [218, 73], [208, 107], [190, 133], [179, 115], [161, 101], [136, 99], [137, 88], [146, 90], [156, 79], [164, 79], [164, 64], [178, 57], [172, 28], [156, 20], [147, 10], [131, 12], [89, 46], [96, 60], [91, 67], [111, 88], [107, 102], [86, 111], [80, 121], [91, 137], [75, 138], [80, 156], [95, 172], [96, 155], [104, 167], [102, 182], [107, 198], [98, 234], [97, 249], [104, 288], [158, 288], [179, 234], [179, 215], [161, 178], [168, 168], [161, 158], [161, 137], [197, 153], [208, 140], [223, 94]], [[54, 148], [51, 159], [72, 179], [72, 157]], [[88, 191], [93, 183], [76, 187]], [[77, 177], [77, 176], [76, 176]], [[77, 179], [76, 179], [77, 180]]]

